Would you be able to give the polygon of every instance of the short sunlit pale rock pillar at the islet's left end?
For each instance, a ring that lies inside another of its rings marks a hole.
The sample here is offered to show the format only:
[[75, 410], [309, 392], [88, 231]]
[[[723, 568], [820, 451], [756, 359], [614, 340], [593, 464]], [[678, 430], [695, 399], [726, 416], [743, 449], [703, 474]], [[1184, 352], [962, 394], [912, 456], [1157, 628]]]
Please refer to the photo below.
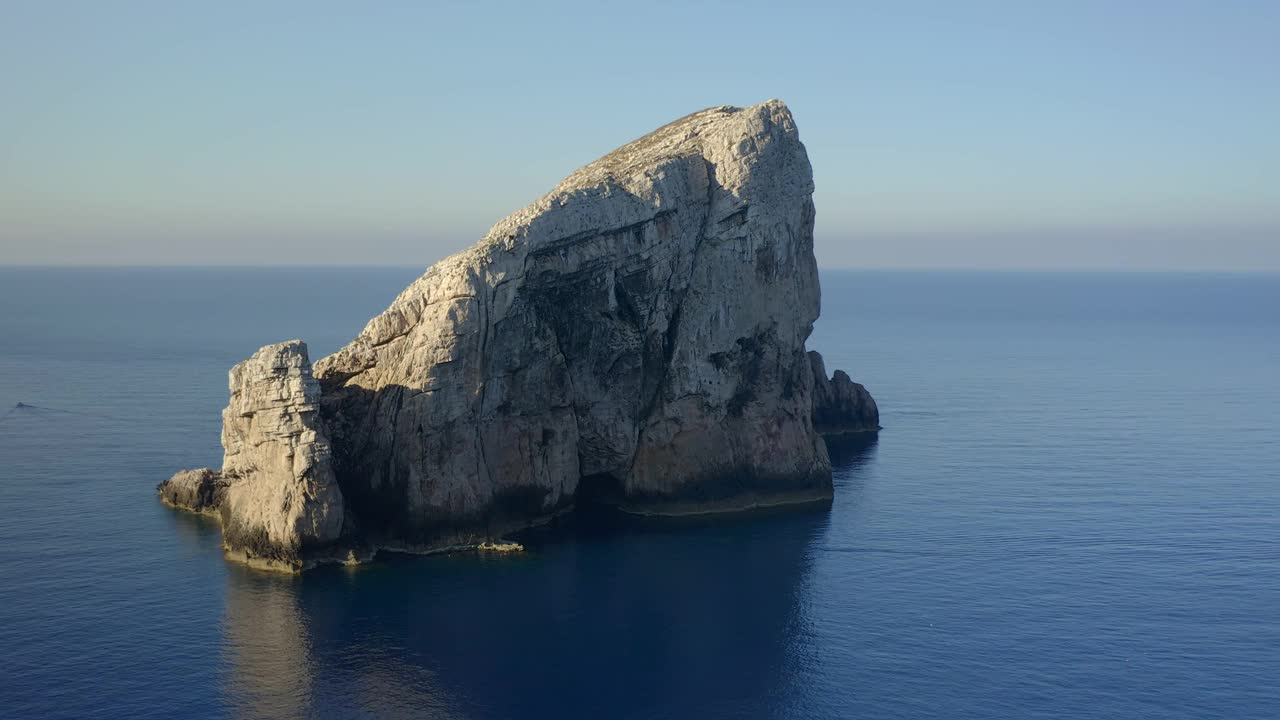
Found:
[[320, 424], [320, 386], [302, 341], [232, 368], [223, 410], [223, 542], [237, 557], [302, 566], [343, 528], [342, 491]]

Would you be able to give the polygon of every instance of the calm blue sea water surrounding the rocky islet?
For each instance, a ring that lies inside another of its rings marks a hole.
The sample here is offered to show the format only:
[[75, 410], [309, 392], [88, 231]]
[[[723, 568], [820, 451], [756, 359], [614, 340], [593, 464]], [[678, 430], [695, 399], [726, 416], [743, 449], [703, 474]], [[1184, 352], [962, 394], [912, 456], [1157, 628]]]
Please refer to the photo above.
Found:
[[829, 510], [224, 562], [227, 369], [416, 274], [0, 269], [0, 716], [1280, 717], [1280, 277], [824, 273]]

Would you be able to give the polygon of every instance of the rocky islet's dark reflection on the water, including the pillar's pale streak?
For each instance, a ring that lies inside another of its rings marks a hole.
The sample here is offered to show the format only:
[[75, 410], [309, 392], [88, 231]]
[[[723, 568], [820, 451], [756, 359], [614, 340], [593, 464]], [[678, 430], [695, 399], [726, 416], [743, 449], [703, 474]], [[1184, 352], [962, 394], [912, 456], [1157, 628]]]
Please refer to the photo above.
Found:
[[828, 512], [584, 514], [525, 533], [515, 556], [384, 553], [292, 578], [237, 568], [236, 714], [776, 715], [805, 682], [792, 643]]

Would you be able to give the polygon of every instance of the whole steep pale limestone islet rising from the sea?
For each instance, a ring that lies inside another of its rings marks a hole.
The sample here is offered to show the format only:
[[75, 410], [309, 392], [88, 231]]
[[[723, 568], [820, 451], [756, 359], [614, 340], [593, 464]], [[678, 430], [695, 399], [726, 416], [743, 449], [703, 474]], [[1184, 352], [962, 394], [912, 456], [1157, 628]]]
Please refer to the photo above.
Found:
[[312, 368], [230, 372], [220, 471], [169, 505], [297, 571], [474, 547], [580, 498], [645, 514], [828, 501], [822, 433], [876, 402], [805, 351], [813, 173], [790, 110], [712, 108], [620, 147], [447, 258]]

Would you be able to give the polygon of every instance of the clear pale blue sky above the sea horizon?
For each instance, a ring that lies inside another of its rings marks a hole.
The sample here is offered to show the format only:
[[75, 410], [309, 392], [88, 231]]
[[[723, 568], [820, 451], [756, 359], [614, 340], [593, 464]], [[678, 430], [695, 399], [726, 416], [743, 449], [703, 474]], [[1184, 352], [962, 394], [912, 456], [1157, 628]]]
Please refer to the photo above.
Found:
[[1280, 3], [0, 3], [0, 263], [412, 264], [781, 97], [823, 266], [1280, 269]]

